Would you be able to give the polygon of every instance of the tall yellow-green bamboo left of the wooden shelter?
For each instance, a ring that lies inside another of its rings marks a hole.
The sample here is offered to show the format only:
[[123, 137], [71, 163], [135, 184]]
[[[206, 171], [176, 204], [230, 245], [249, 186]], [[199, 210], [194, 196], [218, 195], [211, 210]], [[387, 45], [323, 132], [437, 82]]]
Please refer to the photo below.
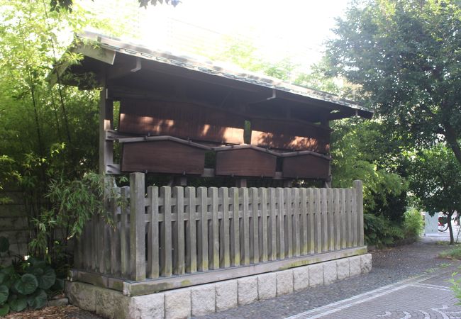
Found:
[[[73, 31], [89, 23], [104, 21], [77, 6], [50, 12], [46, 1], [0, 0], [0, 189], [13, 184], [26, 194], [29, 240], [41, 233], [45, 246], [30, 253], [40, 257], [67, 244], [68, 236], [60, 241], [53, 229], [74, 231], [72, 222], [42, 227], [43, 218], [62, 216], [46, 196], [52, 181], [82, 179], [97, 167], [98, 92], [48, 82]], [[74, 63], [79, 56], [67, 52], [62, 59]]]

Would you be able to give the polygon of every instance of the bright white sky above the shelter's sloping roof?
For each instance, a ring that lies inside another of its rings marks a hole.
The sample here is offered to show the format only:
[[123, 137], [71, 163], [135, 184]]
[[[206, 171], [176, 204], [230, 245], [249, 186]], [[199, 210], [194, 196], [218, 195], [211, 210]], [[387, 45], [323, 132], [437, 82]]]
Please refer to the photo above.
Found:
[[[104, 6], [104, 1], [90, 5]], [[289, 59], [302, 70], [320, 60], [323, 43], [333, 36], [334, 18], [348, 5], [348, 0], [182, 0], [176, 7], [139, 9], [135, 0], [106, 1], [110, 4], [102, 13], [126, 14], [135, 29], [126, 38], [135, 34], [136, 42], [152, 49], [210, 56], [230, 43], [251, 43], [262, 59]], [[127, 2], [133, 2], [129, 9]]]

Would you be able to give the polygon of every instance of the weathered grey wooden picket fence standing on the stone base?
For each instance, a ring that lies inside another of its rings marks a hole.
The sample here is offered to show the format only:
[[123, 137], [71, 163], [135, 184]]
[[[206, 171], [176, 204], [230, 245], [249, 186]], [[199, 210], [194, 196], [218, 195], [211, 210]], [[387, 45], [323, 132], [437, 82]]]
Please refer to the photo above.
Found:
[[130, 174], [77, 243], [76, 267], [143, 281], [363, 246], [362, 182], [349, 189], [149, 186]]

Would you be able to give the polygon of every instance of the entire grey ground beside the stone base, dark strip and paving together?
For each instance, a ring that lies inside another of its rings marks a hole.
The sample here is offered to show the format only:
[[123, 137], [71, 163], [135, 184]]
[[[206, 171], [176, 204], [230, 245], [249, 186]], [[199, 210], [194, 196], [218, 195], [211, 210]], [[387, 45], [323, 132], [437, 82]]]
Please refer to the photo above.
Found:
[[461, 318], [446, 281], [461, 263], [438, 258], [448, 239], [375, 250], [370, 274], [201, 318]]

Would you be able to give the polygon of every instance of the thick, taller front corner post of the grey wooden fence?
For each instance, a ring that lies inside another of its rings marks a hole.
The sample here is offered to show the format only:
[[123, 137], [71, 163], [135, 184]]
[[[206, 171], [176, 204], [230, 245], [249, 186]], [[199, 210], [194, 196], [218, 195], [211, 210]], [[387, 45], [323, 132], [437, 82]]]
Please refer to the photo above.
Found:
[[144, 174], [130, 174], [131, 279], [145, 279]]

